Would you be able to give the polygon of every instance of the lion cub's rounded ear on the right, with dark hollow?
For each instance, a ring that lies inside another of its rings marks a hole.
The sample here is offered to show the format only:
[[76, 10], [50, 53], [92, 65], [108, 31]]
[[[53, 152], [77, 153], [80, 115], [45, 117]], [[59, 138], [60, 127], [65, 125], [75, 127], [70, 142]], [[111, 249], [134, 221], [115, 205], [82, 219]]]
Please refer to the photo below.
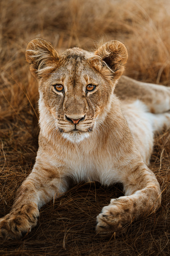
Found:
[[124, 65], [128, 59], [128, 51], [123, 43], [112, 40], [95, 51], [95, 55], [98, 55], [103, 63], [113, 71], [113, 76], [118, 79], [123, 71]]

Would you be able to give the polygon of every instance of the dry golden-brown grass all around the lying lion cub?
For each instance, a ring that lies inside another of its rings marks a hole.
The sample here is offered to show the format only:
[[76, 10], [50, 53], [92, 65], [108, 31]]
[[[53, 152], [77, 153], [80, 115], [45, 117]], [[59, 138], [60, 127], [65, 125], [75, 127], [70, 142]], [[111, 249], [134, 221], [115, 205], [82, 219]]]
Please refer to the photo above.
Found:
[[[28, 72], [25, 49], [35, 37], [58, 50], [88, 50], [104, 38], [128, 47], [126, 74], [170, 86], [169, 0], [1, 0], [0, 2], [0, 216], [33, 167], [37, 84]], [[162, 187], [162, 208], [133, 222], [122, 237], [103, 240], [95, 219], [119, 185], [81, 183], [41, 209], [37, 227], [21, 240], [0, 242], [0, 255], [170, 255], [169, 132], [156, 137], [150, 168]]]

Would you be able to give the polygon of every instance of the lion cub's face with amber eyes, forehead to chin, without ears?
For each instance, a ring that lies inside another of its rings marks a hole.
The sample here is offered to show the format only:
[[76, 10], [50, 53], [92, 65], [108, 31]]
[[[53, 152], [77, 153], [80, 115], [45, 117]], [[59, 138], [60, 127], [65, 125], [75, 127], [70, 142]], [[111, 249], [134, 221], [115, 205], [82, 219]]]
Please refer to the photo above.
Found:
[[79, 48], [60, 55], [57, 69], [42, 79], [40, 92], [62, 135], [71, 141], [88, 137], [96, 120], [109, 108], [113, 84], [109, 83]]

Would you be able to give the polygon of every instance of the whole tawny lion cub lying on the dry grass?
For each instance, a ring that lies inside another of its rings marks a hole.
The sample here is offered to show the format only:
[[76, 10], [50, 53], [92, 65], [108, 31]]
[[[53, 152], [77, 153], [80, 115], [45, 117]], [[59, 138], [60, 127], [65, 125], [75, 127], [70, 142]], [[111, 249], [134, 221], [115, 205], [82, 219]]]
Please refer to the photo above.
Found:
[[154, 132], [170, 124], [170, 89], [123, 76], [119, 99], [114, 89], [127, 58], [118, 41], [94, 53], [75, 47], [58, 54], [43, 39], [28, 44], [26, 59], [40, 92], [39, 149], [11, 212], [0, 219], [1, 237], [30, 231], [40, 207], [65, 193], [71, 179], [123, 184], [125, 196], [97, 217], [101, 234], [118, 234], [160, 207], [160, 186], [146, 164]]

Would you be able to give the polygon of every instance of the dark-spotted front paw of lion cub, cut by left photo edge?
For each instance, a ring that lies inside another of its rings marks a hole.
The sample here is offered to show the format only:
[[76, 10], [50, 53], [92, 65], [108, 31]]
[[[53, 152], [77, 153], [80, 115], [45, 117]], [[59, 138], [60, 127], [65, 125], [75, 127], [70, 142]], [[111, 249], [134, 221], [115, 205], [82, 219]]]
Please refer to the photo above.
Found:
[[38, 208], [32, 204], [13, 208], [0, 219], [0, 239], [18, 239], [24, 236], [37, 224], [38, 216]]

